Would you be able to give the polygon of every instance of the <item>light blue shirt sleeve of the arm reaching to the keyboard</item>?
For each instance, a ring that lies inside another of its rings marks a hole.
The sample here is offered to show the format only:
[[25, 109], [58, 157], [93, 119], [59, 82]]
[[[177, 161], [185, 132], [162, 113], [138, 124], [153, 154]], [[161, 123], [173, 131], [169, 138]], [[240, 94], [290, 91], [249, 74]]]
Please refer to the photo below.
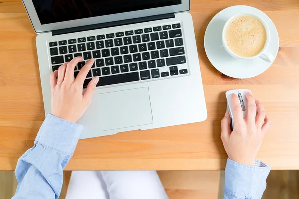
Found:
[[72, 157], [83, 126], [48, 114], [33, 148], [18, 160], [12, 199], [58, 199], [63, 169]]

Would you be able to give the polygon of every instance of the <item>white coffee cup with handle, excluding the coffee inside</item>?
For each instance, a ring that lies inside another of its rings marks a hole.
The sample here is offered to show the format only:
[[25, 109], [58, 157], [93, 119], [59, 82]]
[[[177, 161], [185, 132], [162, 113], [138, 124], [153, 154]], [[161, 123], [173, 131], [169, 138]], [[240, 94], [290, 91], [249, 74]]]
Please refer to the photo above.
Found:
[[[239, 55], [236, 55], [233, 51], [231, 51], [226, 42], [225, 42], [225, 32], [226, 32], [226, 28], [228, 26], [228, 24], [234, 20], [236, 17], [238, 16], [243, 16], [243, 15], [250, 15], [250, 16], [253, 16], [255, 18], [257, 18], [259, 21], [261, 21], [261, 23], [264, 25], [265, 29], [266, 29], [266, 35], [267, 35], [267, 39], [266, 39], [266, 44], [263, 48], [263, 50], [256, 54], [255, 56], [253, 57], [242, 57], [242, 56], [239, 56]], [[232, 16], [230, 19], [228, 19], [228, 21], [225, 23], [224, 25], [224, 28], [223, 28], [223, 31], [222, 31], [222, 42], [223, 42], [223, 47], [225, 48], [225, 50], [228, 52], [228, 54], [230, 54], [232, 57], [234, 58], [241, 58], [241, 59], [254, 59], [256, 57], [259, 57], [267, 62], [273, 62], [274, 60], [274, 56], [267, 51], [267, 48], [269, 46], [269, 42], [270, 42], [270, 30], [267, 26], [267, 24], [265, 23], [265, 21], [263, 19], [261, 19], [259, 16], [255, 15], [255, 14], [252, 14], [252, 13], [241, 13], [241, 14], [236, 14], [234, 16]]]

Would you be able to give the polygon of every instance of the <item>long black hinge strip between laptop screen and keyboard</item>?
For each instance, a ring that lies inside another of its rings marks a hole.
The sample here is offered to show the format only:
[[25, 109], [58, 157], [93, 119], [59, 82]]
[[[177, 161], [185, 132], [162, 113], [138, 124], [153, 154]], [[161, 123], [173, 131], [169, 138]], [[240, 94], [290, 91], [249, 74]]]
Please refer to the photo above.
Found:
[[54, 31], [52, 31], [52, 35], [55, 36], [55, 35], [73, 33], [73, 32], [82, 32], [82, 31], [87, 31], [87, 30], [95, 30], [95, 29], [109, 28], [109, 27], [115, 27], [115, 26], [121, 26], [121, 25], [143, 23], [143, 22], [148, 22], [148, 21], [156, 21], [156, 20], [168, 19], [168, 18], [174, 18], [174, 17], [175, 17], [174, 13], [170, 13], [170, 14], [154, 15], [154, 16], [135, 18], [135, 19], [127, 19], [127, 20], [121, 20], [121, 21], [113, 21], [113, 22], [107, 22], [107, 23], [99, 23], [99, 24], [86, 25], [86, 26], [80, 26], [80, 27], [74, 27], [74, 28], [54, 30]]

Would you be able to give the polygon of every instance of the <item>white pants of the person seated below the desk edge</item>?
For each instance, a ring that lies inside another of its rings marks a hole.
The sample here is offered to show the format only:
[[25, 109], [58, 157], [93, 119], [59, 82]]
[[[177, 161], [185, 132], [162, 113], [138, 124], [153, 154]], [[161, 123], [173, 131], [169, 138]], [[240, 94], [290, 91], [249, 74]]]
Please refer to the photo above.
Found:
[[168, 199], [156, 171], [73, 171], [65, 199]]

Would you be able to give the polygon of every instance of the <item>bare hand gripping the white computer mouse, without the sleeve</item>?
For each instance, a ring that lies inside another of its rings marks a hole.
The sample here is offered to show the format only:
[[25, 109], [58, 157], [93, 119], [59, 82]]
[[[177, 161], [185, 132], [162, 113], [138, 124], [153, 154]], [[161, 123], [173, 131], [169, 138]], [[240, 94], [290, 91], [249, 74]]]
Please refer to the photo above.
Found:
[[221, 121], [221, 139], [231, 160], [253, 166], [271, 122], [259, 100], [255, 100], [250, 92], [246, 93], [246, 98], [248, 111], [243, 119], [238, 96], [232, 94], [234, 130], [231, 131], [231, 118], [227, 111]]

